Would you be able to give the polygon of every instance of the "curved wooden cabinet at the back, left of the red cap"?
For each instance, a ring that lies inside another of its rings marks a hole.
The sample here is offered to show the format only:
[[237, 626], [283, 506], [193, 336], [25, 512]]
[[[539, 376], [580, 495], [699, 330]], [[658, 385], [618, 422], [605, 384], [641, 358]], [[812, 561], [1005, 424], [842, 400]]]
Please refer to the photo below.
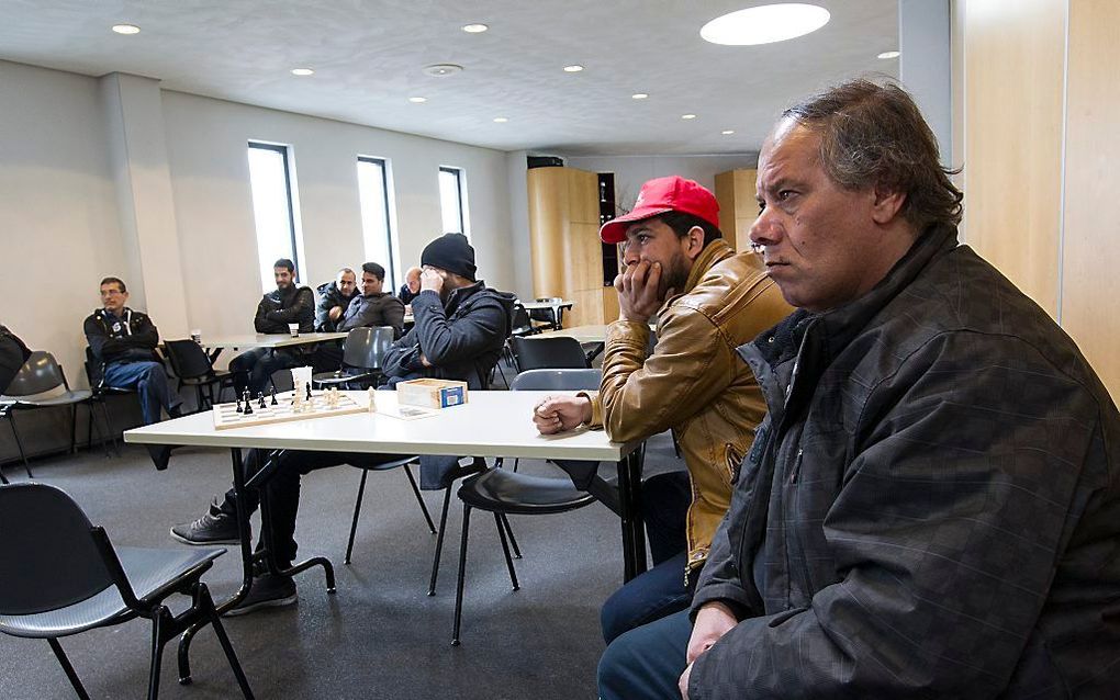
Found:
[[616, 320], [614, 288], [603, 286], [598, 176], [553, 167], [532, 168], [526, 177], [533, 296], [575, 301], [566, 326]]

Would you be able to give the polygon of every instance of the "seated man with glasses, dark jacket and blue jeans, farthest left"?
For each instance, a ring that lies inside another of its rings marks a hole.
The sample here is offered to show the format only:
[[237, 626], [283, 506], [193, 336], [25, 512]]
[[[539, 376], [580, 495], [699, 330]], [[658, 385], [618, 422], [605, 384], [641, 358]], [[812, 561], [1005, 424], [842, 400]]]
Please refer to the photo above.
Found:
[[121, 279], [101, 280], [102, 308], [86, 317], [82, 329], [101, 365], [101, 376], [94, 381], [137, 390], [143, 422], [155, 423], [161, 408], [168, 416], [178, 416], [183, 400], [168, 386], [164, 363], [156, 355], [159, 332], [147, 314], [128, 308], [128, 288]]

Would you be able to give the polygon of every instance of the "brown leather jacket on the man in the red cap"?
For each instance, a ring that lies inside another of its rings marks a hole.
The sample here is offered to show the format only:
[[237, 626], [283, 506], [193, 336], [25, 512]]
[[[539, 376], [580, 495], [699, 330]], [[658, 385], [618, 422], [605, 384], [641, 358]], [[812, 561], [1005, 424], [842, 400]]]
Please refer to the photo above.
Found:
[[612, 440], [641, 440], [672, 428], [692, 480], [688, 571], [708, 557], [731, 502], [731, 469], [766, 413], [754, 374], [735, 353], [792, 310], [758, 255], [725, 241], [696, 260], [682, 295], [657, 312], [657, 345], [646, 358], [650, 327], [615, 321], [607, 329], [603, 384], [591, 399], [592, 428]]

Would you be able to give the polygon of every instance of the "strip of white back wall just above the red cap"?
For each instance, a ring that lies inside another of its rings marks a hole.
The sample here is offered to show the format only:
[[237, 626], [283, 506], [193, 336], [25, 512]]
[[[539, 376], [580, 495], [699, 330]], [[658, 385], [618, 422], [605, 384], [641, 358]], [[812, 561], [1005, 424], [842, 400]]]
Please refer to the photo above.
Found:
[[716, 175], [736, 168], [754, 168], [758, 153], [731, 156], [573, 156], [566, 165], [591, 172], [615, 174], [615, 204], [629, 211], [642, 183], [680, 175], [716, 192]]

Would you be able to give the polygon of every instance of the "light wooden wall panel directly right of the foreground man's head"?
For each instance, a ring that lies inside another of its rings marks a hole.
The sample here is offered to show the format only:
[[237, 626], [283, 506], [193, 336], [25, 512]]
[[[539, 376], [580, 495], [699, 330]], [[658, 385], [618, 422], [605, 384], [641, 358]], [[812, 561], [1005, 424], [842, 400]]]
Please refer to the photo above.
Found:
[[967, 0], [968, 243], [1057, 315], [1066, 0]]

